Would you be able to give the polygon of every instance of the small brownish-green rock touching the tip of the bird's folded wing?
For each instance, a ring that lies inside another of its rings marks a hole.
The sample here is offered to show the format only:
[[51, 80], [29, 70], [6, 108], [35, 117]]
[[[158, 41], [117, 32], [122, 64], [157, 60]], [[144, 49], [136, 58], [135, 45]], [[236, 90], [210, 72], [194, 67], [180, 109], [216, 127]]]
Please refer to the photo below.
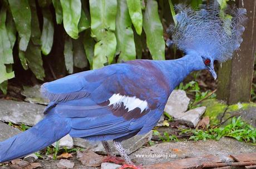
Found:
[[24, 90], [21, 92], [21, 94], [23, 96], [26, 96], [25, 101], [29, 103], [38, 103], [38, 104], [47, 105], [49, 103], [49, 100], [42, 97], [40, 93], [40, 86], [41, 85], [35, 85], [33, 87], [23, 86]]

